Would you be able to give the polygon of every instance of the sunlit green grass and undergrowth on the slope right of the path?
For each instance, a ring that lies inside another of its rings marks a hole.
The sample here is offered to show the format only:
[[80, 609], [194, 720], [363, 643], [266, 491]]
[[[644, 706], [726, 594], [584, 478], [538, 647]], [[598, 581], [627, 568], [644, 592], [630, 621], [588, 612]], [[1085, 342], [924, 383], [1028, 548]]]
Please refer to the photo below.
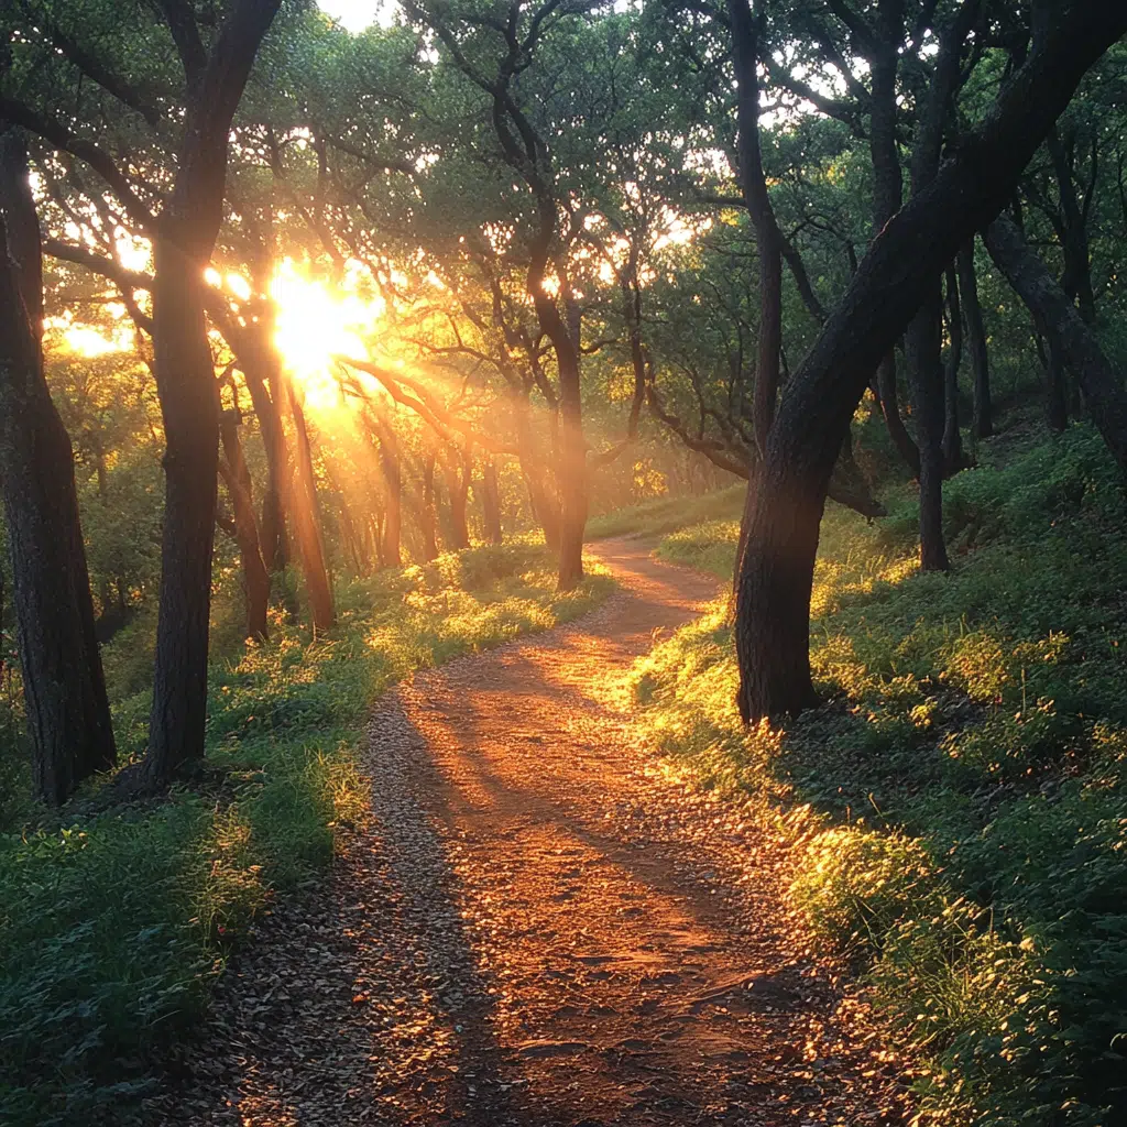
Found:
[[[717, 605], [638, 663], [638, 722], [792, 836], [795, 900], [923, 1061], [921, 1122], [1097, 1127], [1127, 1120], [1127, 505], [1088, 427], [991, 450], [946, 488], [950, 575], [906, 490], [827, 511], [822, 708], [743, 729]], [[659, 553], [727, 576], [735, 532]]]

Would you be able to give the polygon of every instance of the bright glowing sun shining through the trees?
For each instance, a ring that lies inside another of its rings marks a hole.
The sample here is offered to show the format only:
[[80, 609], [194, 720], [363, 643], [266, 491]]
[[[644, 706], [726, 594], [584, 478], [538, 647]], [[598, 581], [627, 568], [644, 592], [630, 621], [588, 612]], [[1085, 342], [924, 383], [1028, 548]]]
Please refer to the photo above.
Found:
[[362, 296], [358, 282], [358, 272], [348, 269], [338, 285], [313, 279], [286, 258], [270, 284], [270, 296], [277, 303], [275, 343], [312, 410], [340, 407], [332, 356], [366, 356], [365, 341], [379, 331], [385, 303], [380, 296]]

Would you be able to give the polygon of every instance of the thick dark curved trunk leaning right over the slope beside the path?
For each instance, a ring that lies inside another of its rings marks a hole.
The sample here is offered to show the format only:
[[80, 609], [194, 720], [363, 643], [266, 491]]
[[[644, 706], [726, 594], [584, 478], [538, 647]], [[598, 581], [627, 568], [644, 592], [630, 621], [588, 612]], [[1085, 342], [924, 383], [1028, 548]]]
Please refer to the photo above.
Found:
[[938, 176], [873, 240], [790, 380], [767, 442], [737, 601], [738, 703], [745, 720], [811, 699], [809, 604], [826, 488], [872, 372], [946, 265], [988, 223], [1080, 79], [1127, 32], [1127, 9], [1059, 5], [1026, 63]]

